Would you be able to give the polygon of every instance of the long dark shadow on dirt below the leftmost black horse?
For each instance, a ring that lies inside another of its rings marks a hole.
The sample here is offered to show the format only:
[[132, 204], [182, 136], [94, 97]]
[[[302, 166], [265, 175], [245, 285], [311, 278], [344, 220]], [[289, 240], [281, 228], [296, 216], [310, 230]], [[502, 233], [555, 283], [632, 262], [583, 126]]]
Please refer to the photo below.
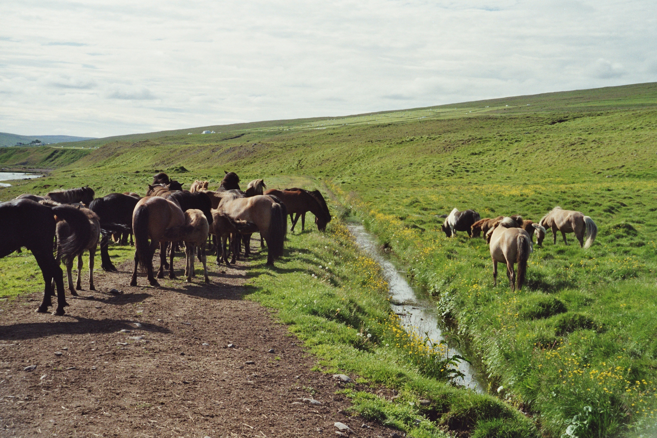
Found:
[[[129, 320], [123, 319], [93, 319], [76, 316], [64, 315], [58, 318], [69, 318], [74, 320], [58, 320], [57, 322], [22, 322], [18, 324], [9, 324], [0, 326], [0, 339], [35, 339], [45, 338], [55, 335], [70, 334], [98, 334], [98, 333], [115, 333], [119, 330], [135, 330], [135, 324]], [[139, 330], [156, 333], [171, 333], [168, 328], [140, 322]]]

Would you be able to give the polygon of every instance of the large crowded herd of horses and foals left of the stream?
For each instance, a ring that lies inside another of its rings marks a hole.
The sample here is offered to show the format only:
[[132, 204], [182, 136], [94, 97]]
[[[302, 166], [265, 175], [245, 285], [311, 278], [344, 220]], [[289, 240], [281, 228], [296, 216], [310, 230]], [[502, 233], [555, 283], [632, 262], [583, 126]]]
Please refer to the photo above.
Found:
[[[68, 286], [72, 295], [81, 290], [82, 253], [89, 251], [89, 289], [95, 290], [93, 265], [97, 247], [101, 249], [101, 267], [117, 271], [108, 253], [110, 236], [116, 240], [134, 234], [135, 267], [131, 286], [137, 285], [137, 272], [147, 271], [148, 282], [159, 286], [153, 274], [152, 258], [160, 248], [160, 267], [157, 277], [175, 278], [173, 256], [175, 248], [185, 246], [185, 276], [194, 276], [194, 258], [203, 263], [204, 279], [209, 282], [206, 266], [208, 240], [216, 244], [217, 264], [235, 263], [244, 243], [244, 256], [250, 255], [250, 236], [259, 232], [261, 246], [267, 244], [267, 265], [283, 254], [287, 232], [287, 215], [292, 230], [306, 213], [315, 215], [319, 230], [325, 230], [331, 220], [327, 204], [319, 190], [288, 188], [264, 190], [262, 179], [251, 181], [242, 192], [239, 177], [226, 172], [215, 191], [208, 190], [208, 181], [194, 181], [190, 190], [171, 180], [166, 173], [154, 175], [145, 197], [134, 192], [110, 193], [94, 198], [89, 187], [57, 190], [45, 196], [22, 194], [9, 202], [0, 203], [0, 257], [27, 248], [34, 255], [45, 282], [43, 302], [37, 312], [46, 313], [51, 307], [51, 296], [57, 290], [56, 315], [64, 315], [68, 305], [64, 297], [64, 281], [60, 261], [64, 262]], [[149, 242], [150, 240], [150, 242]], [[263, 242], [264, 240], [264, 242]], [[56, 246], [55, 246], [56, 243]], [[57, 248], [57, 255], [53, 255]], [[231, 262], [228, 261], [232, 252]], [[169, 255], [169, 261], [167, 261]], [[73, 286], [73, 261], [78, 257], [78, 279]]]

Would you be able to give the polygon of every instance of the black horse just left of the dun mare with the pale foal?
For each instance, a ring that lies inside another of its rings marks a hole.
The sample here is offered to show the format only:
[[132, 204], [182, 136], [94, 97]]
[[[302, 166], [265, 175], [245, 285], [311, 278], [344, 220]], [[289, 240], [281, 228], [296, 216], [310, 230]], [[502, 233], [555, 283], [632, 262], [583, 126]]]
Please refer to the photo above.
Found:
[[96, 198], [89, 204], [89, 209], [96, 213], [101, 221], [101, 268], [103, 271], [118, 272], [112, 264], [108, 252], [109, 236], [116, 232], [129, 232], [132, 241], [132, 213], [139, 198], [123, 193], [110, 193]]

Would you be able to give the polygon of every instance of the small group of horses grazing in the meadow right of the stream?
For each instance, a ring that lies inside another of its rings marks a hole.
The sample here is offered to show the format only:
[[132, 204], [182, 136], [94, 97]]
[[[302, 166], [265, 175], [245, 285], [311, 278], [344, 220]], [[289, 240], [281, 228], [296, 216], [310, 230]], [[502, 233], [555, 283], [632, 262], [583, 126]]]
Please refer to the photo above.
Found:
[[[536, 236], [538, 245], [543, 244], [546, 229], [552, 230], [554, 244], [557, 231], [561, 232], [566, 245], [566, 233], [574, 232], [581, 248], [590, 248], [598, 232], [591, 217], [560, 207], [551, 209], [538, 223], [524, 220], [520, 215], [481, 219], [479, 213], [472, 209], [459, 211], [455, 208], [442, 225], [447, 237], [454, 237], [457, 231], [466, 231], [470, 237], [478, 237], [483, 233], [493, 260], [493, 284], [497, 285], [497, 263], [505, 263], [511, 290], [522, 288], [527, 260], [533, 249], [533, 236]], [[518, 263], [517, 275], [514, 271], [515, 263]]]

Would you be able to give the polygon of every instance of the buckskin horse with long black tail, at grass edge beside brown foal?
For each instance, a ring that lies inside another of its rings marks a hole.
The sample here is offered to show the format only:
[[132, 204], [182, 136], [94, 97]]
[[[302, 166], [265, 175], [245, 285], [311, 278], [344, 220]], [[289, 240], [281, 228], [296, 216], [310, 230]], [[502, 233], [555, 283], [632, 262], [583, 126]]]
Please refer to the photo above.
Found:
[[260, 232], [267, 242], [267, 265], [283, 255], [287, 233], [287, 209], [279, 198], [272, 195], [256, 195], [239, 198], [227, 193], [219, 203], [219, 213], [226, 217], [242, 234]]

